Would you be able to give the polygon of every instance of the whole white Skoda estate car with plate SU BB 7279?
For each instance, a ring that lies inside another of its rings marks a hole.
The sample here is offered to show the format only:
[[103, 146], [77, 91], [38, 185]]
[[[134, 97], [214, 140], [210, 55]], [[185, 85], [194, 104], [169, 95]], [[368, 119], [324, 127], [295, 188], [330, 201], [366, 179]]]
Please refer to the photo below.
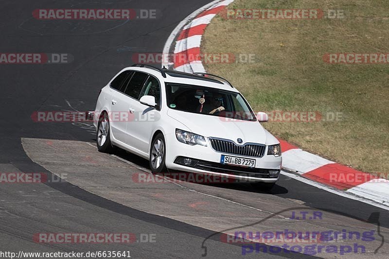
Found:
[[136, 64], [99, 94], [97, 147], [120, 147], [149, 160], [153, 173], [207, 173], [271, 188], [278, 180], [280, 142], [243, 95], [218, 76]]

